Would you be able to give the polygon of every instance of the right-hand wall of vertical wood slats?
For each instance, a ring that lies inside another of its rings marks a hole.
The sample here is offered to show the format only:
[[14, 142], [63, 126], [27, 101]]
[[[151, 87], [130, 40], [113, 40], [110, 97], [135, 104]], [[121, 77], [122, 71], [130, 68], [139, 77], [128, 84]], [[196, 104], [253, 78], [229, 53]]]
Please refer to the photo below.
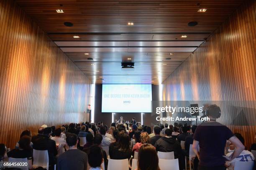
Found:
[[[164, 81], [164, 100], [256, 101], [255, 7], [256, 1], [246, 0]], [[219, 121], [227, 124], [232, 115], [223, 113]], [[256, 142], [255, 108], [245, 117], [254, 123], [229, 127], [243, 134], [249, 147]]]

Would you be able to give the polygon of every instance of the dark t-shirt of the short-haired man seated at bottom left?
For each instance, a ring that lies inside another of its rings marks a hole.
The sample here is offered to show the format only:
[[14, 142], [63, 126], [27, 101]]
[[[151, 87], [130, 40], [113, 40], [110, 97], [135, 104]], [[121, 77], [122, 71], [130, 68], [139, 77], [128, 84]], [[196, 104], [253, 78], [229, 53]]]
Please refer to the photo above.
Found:
[[87, 154], [81, 150], [67, 150], [57, 158], [58, 170], [87, 170]]

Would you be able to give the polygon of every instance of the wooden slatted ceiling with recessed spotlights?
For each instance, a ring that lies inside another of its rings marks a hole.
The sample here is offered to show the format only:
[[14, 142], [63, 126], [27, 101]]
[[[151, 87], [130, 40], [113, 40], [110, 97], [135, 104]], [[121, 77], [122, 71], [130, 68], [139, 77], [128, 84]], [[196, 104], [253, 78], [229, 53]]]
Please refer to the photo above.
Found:
[[[36, 20], [51, 40], [55, 41], [92, 82], [159, 84], [200, 46], [243, 0], [16, 2]], [[200, 8], [206, 8], [207, 11], [197, 12]], [[57, 9], [64, 10], [64, 13], [56, 13]], [[191, 21], [197, 21], [198, 25], [189, 27], [188, 23]], [[71, 22], [73, 26], [67, 27], [64, 22]], [[133, 22], [134, 25], [127, 25], [128, 22]], [[181, 38], [182, 35], [187, 35], [187, 38]], [[88, 43], [90, 41], [94, 43]], [[166, 43], [163, 43], [165, 41]], [[113, 42], [114, 46], [111, 45]], [[141, 43], [144, 45], [141, 46]], [[89, 57], [93, 58], [93, 61], [87, 60]], [[135, 62], [135, 69], [121, 69], [121, 62], [128, 61], [128, 58], [131, 58], [129, 61]]]

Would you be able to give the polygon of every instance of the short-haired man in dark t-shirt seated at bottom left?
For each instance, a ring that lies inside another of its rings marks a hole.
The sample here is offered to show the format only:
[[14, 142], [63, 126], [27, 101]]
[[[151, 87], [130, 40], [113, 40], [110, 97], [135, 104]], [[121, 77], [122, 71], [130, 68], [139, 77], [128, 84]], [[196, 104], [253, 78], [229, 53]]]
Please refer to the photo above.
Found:
[[76, 134], [67, 134], [69, 150], [58, 157], [58, 170], [87, 170], [87, 154], [77, 149], [78, 137]]

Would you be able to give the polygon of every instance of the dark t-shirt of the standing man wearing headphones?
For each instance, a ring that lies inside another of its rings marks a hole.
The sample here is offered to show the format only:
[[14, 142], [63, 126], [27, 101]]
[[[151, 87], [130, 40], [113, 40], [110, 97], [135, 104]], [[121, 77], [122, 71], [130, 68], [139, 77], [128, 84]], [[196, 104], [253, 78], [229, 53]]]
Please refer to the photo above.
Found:
[[218, 122], [200, 124], [194, 134], [194, 140], [198, 141], [200, 146], [199, 164], [205, 167], [224, 165], [226, 141], [233, 136], [228, 127]]

